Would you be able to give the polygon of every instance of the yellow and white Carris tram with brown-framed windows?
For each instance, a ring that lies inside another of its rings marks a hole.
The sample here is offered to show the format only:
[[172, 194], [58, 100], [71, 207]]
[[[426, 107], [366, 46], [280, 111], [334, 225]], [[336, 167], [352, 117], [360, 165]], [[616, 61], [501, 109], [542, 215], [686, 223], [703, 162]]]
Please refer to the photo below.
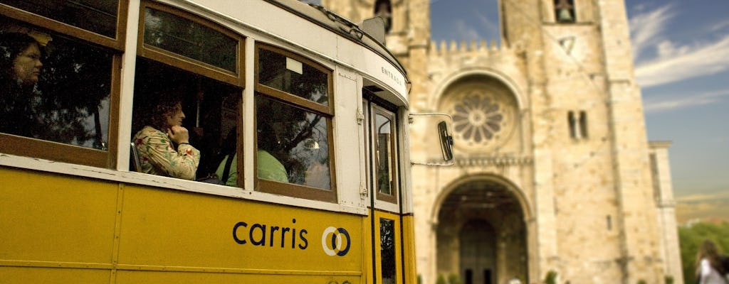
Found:
[[[2, 0], [0, 21], [39, 51], [17, 55], [32, 86], [0, 94], [15, 107], [0, 108], [0, 283], [416, 283], [410, 83], [381, 19], [292, 0]], [[181, 100], [192, 180], [140, 166], [160, 92]], [[432, 131], [448, 161], [448, 130]], [[264, 137], [284, 179], [260, 174]], [[224, 157], [236, 178], [204, 182]]]

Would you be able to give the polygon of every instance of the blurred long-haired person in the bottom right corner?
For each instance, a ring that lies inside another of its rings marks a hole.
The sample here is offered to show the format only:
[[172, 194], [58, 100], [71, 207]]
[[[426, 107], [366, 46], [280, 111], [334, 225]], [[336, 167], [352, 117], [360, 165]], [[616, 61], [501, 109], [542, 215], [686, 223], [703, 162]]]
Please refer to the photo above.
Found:
[[704, 240], [696, 255], [696, 283], [727, 284], [719, 250], [711, 240]]

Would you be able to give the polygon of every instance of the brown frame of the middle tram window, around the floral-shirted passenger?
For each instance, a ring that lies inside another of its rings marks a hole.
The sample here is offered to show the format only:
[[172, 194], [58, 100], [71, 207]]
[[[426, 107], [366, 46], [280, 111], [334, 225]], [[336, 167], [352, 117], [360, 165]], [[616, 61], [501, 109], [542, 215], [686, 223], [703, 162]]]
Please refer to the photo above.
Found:
[[[244, 140], [244, 131], [243, 129], [243, 90], [245, 89], [245, 83], [246, 83], [246, 73], [245, 73], [245, 59], [246, 59], [246, 37], [242, 36], [239, 33], [235, 33], [234, 31], [231, 31], [229, 28], [225, 28], [222, 25], [219, 25], [217, 23], [214, 23], [212, 20], [208, 20], [205, 17], [201, 17], [200, 15], [193, 15], [190, 12], [186, 12], [182, 9], [171, 7], [165, 4], [160, 4], [152, 1], [142, 1], [140, 7], [139, 7], [140, 17], [139, 17], [139, 32], [137, 36], [139, 37], [139, 41], [137, 42], [137, 60], [140, 58], [143, 58], [144, 60], [148, 60], [149, 62], [154, 62], [156, 64], [165, 65], [170, 68], [176, 68], [184, 73], [190, 73], [192, 75], [201, 76], [203, 78], [206, 78], [210, 81], [215, 81], [221, 86], [227, 85], [230, 87], [237, 88], [238, 90], [238, 102], [233, 107], [231, 106], [227, 112], [230, 112], [230, 110], [235, 111], [235, 128], [238, 129], [236, 131], [236, 145], [235, 145], [235, 153], [238, 153], [238, 161], [236, 161], [236, 168], [237, 168], [237, 176], [238, 179], [236, 179], [235, 186], [237, 187], [243, 187], [244, 180], [243, 180], [243, 153], [245, 151], [243, 150], [243, 141]], [[234, 39], [237, 41], [237, 47], [235, 49], [235, 72], [226, 70], [224, 68], [220, 68], [215, 65], [211, 65], [208, 62], [203, 62], [200, 60], [195, 60], [190, 57], [184, 56], [184, 54], [178, 54], [175, 52], [171, 52], [168, 50], [165, 50], [163, 48], [152, 46], [149, 44], [145, 44], [144, 42], [144, 32], [145, 32], [145, 11], [146, 9], [155, 9], [162, 12], [166, 12], [170, 15], [174, 15], [176, 17], [181, 17], [183, 20], [188, 20], [192, 23], [202, 25], [204, 28], [209, 28], [213, 31], [217, 31], [219, 33], [222, 33], [223, 36], [227, 36], [229, 38]], [[138, 66], [139, 67], [139, 66]], [[137, 74], [139, 70], [137, 70], [135, 73]], [[137, 75], [136, 75], [137, 76]], [[136, 88], [136, 86], [135, 86]], [[141, 93], [140, 93], [141, 94]], [[138, 90], [135, 89], [134, 96], [136, 97], [138, 95]], [[222, 102], [225, 102], [225, 98], [222, 99]], [[184, 109], [189, 109], [190, 106], [183, 106]], [[221, 109], [221, 111], [223, 111]], [[230, 114], [228, 114], [230, 115]], [[222, 123], [222, 121], [225, 119], [225, 113], [220, 114], [220, 121], [217, 121], [218, 123]], [[134, 125], [134, 122], [132, 123]], [[222, 133], [223, 127], [221, 126], [220, 133], [217, 133], [221, 135], [221, 137], [227, 137], [227, 133]], [[192, 129], [189, 129], [190, 132], [192, 132]], [[136, 131], [139, 131], [139, 129], [132, 129], [132, 135], [136, 134]], [[232, 133], [232, 132], [231, 132]], [[131, 138], [131, 137], [130, 137]], [[192, 145], [193, 147], [197, 148], [198, 150], [201, 150], [202, 145]], [[224, 145], [220, 145], [221, 149], [225, 147]], [[220, 150], [220, 149], [219, 149]], [[201, 151], [202, 152], [202, 151]], [[225, 153], [220, 153], [225, 154]], [[202, 153], [201, 153], [202, 155]], [[224, 157], [225, 155], [220, 155]], [[202, 163], [198, 166], [197, 174], [198, 176], [196, 179], [198, 181], [206, 179], [204, 176], [200, 176], [200, 174], [205, 174], [200, 172], [200, 167], [203, 166]], [[209, 174], [209, 173], [208, 173]], [[223, 181], [225, 183], [225, 181]]]

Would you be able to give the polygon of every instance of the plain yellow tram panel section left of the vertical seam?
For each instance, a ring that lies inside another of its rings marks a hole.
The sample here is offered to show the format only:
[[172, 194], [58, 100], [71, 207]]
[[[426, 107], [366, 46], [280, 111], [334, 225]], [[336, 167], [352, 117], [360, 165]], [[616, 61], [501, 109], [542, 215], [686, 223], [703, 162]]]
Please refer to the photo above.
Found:
[[0, 168], [0, 283], [109, 283], [118, 187]]

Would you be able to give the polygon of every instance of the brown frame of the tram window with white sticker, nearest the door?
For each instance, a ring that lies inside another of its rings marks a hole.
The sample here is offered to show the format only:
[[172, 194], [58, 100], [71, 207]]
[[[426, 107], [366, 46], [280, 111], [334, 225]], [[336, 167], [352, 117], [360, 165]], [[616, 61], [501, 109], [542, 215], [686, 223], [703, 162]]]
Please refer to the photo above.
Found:
[[[313, 102], [311, 100], [307, 100], [303, 97], [299, 97], [296, 94], [292, 94], [289, 92], [284, 92], [282, 90], [266, 86], [265, 84], [262, 84], [259, 80], [259, 73], [256, 71], [254, 74], [254, 97], [264, 97], [265, 99], [272, 100], [273, 102], [281, 103], [284, 105], [288, 105], [290, 107], [295, 107], [297, 109], [303, 110], [308, 113], [313, 113], [316, 115], [322, 115], [327, 120], [327, 142], [329, 145], [327, 145], [328, 149], [328, 155], [329, 155], [329, 174], [330, 174], [330, 188], [329, 189], [321, 189], [317, 187], [308, 187], [302, 184], [295, 184], [290, 182], [276, 182], [269, 179], [262, 179], [258, 177], [257, 171], [258, 171], [258, 157], [257, 155], [254, 158], [254, 188], [257, 191], [260, 192], [268, 192], [273, 194], [279, 194], [279, 195], [286, 195], [291, 196], [295, 198], [305, 198], [310, 200], [321, 200], [325, 202], [336, 202], [338, 200], [337, 195], [337, 179], [336, 179], [336, 169], [335, 169], [335, 141], [334, 141], [334, 126], [333, 126], [333, 120], [335, 118], [335, 111], [334, 111], [334, 100], [335, 100], [335, 94], [334, 94], [334, 78], [333, 78], [333, 70], [330, 68], [324, 67], [324, 65], [319, 64], [318, 62], [315, 62], [313, 60], [308, 59], [307, 57], [304, 57], [303, 55], [296, 54], [294, 52], [290, 52], [289, 50], [283, 49], [278, 46], [273, 46], [270, 44], [265, 43], [257, 43], [255, 46], [255, 58], [254, 58], [254, 70], [259, 70], [260, 68], [260, 62], [259, 62], [259, 52], [261, 49], [265, 49], [269, 52], [275, 52], [277, 54], [283, 55], [284, 57], [291, 58], [292, 60], [297, 60], [299, 62], [302, 62], [305, 65], [308, 65], [309, 67], [316, 68], [316, 70], [319, 70], [325, 74], [327, 74], [327, 96], [328, 101], [327, 105], [322, 105], [317, 102]], [[257, 110], [256, 110], [257, 111]], [[254, 125], [257, 125], [258, 118], [257, 115], [254, 116]], [[258, 150], [258, 134], [257, 131], [255, 131], [256, 134], [254, 135], [254, 143], [255, 143], [255, 149], [254, 153]]]

